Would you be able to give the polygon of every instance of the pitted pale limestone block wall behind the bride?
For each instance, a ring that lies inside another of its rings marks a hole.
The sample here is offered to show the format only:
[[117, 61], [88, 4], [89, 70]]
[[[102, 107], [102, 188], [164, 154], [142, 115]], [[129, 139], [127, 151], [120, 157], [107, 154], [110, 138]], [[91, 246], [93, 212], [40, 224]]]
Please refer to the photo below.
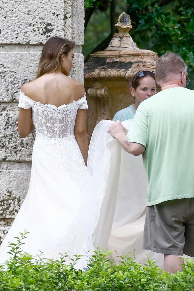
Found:
[[21, 86], [35, 77], [42, 46], [51, 36], [75, 41], [71, 77], [83, 82], [84, 0], [0, 1], [0, 243], [28, 190], [33, 132], [17, 132]]

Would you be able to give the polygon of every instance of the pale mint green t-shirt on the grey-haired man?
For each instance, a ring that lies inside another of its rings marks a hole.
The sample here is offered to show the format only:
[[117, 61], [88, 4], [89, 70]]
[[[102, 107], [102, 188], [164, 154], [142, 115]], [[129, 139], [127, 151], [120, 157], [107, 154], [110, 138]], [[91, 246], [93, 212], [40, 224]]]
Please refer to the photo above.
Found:
[[143, 101], [126, 141], [146, 148], [147, 206], [194, 197], [194, 91], [170, 88]]

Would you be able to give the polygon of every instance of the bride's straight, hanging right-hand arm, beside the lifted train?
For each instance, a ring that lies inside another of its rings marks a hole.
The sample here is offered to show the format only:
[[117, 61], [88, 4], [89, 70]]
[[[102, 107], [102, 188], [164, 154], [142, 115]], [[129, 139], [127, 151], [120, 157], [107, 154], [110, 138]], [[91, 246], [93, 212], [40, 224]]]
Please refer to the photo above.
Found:
[[88, 136], [86, 132], [86, 109], [78, 109], [74, 127], [75, 139], [81, 150], [85, 164], [88, 159]]

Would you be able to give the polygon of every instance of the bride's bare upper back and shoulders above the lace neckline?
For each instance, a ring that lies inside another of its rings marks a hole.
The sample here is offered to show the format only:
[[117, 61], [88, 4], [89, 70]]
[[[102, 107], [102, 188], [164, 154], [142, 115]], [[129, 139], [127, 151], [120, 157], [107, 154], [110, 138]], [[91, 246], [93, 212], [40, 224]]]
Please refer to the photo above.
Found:
[[34, 101], [57, 107], [72, 103], [84, 96], [83, 84], [61, 72], [45, 74], [22, 86], [21, 91]]

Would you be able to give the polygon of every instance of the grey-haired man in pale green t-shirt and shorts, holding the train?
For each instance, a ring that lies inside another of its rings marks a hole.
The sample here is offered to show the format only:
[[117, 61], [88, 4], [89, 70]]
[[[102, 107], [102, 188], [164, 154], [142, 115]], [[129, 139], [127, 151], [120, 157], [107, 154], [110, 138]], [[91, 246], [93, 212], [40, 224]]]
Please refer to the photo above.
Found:
[[181, 270], [180, 255], [194, 256], [194, 91], [177, 54], [159, 58], [161, 92], [143, 101], [127, 133], [120, 121], [109, 133], [129, 153], [143, 154], [147, 212], [143, 248], [164, 254], [164, 269]]

